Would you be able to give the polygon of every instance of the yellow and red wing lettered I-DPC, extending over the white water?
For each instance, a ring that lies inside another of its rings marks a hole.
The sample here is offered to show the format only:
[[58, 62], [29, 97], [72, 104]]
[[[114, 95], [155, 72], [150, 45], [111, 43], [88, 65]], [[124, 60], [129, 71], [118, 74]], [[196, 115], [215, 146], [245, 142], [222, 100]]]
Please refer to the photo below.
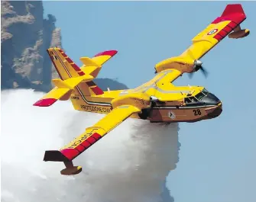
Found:
[[112, 112], [105, 115], [102, 120], [99, 120], [92, 127], [86, 128], [86, 131], [80, 136], [76, 137], [68, 145], [60, 150], [46, 151], [44, 154], [44, 161], [64, 162], [66, 169], [61, 171], [62, 175], [75, 175], [82, 171], [79, 166], [74, 167], [72, 160], [79, 156], [82, 152], [88, 149], [92, 144], [96, 143], [102, 136], [109, 133], [131, 114], [140, 112], [141, 109], [132, 105], [122, 105], [116, 107]]

